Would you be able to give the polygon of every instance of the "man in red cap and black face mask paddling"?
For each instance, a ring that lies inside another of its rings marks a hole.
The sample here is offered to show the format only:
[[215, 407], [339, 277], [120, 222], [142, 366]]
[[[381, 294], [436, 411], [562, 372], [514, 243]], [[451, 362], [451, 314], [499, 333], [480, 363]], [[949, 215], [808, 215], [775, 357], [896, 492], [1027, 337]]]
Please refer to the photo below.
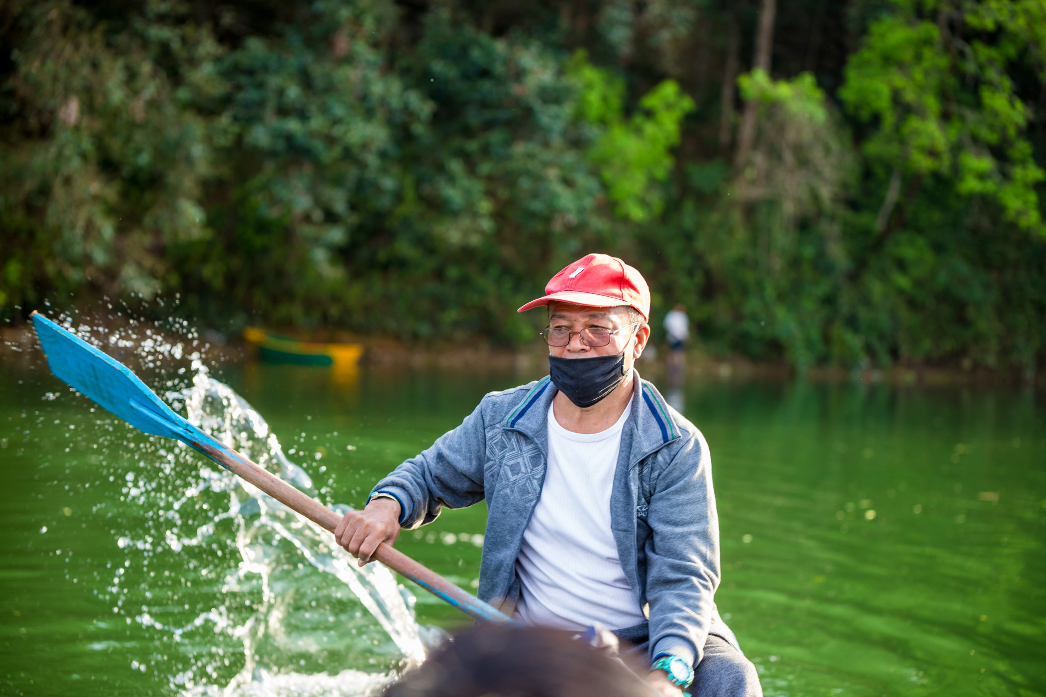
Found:
[[761, 695], [720, 618], [708, 444], [634, 368], [650, 338], [642, 275], [589, 254], [519, 311], [546, 306], [549, 375], [483, 397], [377, 484], [335, 536], [360, 564], [444, 506], [485, 501], [479, 597], [523, 624], [601, 625], [664, 695]]

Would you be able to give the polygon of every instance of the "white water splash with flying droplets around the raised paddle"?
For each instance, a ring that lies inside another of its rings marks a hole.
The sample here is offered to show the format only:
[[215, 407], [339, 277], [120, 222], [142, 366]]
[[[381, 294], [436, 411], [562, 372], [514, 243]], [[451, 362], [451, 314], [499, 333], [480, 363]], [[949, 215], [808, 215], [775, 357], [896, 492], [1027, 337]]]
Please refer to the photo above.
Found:
[[[159, 394], [166, 390], [172, 406], [202, 429], [317, 495], [260, 414], [210, 377], [206, 366], [220, 364], [187, 323], [119, 312], [117, 324], [126, 324], [116, 327], [59, 320]], [[90, 572], [105, 610], [87, 628], [96, 634], [86, 648], [126, 656], [141, 684], [207, 697], [368, 695], [446, 637], [417, 625], [414, 598], [387, 568], [357, 567], [327, 532], [195, 450], [94, 408], [82, 416], [65, 411], [77, 399], [71, 390], [42, 399], [49, 411], [22, 416], [49, 438], [64, 433], [66, 479], [79, 460], [93, 468], [96, 479], [79, 490], [91, 492], [91, 519], [124, 555]], [[51, 471], [49, 460], [42, 471]], [[48, 486], [73, 494], [60, 472], [53, 477]], [[320, 497], [327, 492], [321, 488]], [[69, 565], [69, 547], [48, 554]], [[76, 583], [73, 576], [66, 572]]]

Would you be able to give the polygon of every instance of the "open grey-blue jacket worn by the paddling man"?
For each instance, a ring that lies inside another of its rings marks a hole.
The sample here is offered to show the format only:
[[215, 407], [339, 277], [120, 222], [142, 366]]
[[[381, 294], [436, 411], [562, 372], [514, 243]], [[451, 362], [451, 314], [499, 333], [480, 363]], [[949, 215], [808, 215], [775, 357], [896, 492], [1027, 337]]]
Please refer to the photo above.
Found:
[[[652, 656], [672, 653], [697, 665], [709, 633], [736, 646], [713, 600], [720, 549], [708, 444], [638, 373], [634, 386], [610, 511], [621, 568], [649, 622], [613, 629], [633, 642], [649, 638]], [[555, 393], [543, 377], [485, 395], [461, 425], [373, 489], [400, 501], [400, 525], [408, 529], [431, 522], [444, 506], [485, 499], [479, 597], [508, 613], [520, 594], [516, 557], [545, 480]]]

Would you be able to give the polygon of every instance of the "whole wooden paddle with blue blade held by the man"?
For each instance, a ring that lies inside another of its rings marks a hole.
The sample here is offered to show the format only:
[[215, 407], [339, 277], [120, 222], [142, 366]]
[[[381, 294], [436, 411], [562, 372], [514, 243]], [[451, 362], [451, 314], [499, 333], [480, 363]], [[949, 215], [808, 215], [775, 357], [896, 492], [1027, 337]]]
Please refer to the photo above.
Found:
[[[164, 404], [127, 366], [39, 312], [32, 312], [32, 322], [47, 355], [47, 365], [61, 380], [135, 428], [182, 441], [285, 506], [334, 532], [341, 516], [194, 426]], [[477, 620], [514, 622], [385, 542], [378, 545], [373, 558]]]

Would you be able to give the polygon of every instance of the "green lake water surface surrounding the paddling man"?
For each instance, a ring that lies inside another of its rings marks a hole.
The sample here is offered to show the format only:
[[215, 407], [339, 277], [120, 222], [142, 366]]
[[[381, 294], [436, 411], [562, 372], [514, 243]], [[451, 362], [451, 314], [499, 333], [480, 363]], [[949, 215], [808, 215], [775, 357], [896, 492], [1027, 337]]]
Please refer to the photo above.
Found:
[[[274, 693], [363, 694], [367, 674], [396, 668], [344, 583], [229, 514], [222, 482], [201, 489], [205, 460], [90, 411], [39, 359], [4, 356], [0, 694], [220, 694], [248, 654]], [[186, 365], [146, 381], [185, 387]], [[484, 392], [537, 376], [211, 370], [321, 498], [357, 506]], [[711, 448], [717, 602], [766, 694], [1046, 695], [1043, 397], [721, 380], [672, 396]], [[482, 506], [447, 511], [397, 547], [475, 585], [484, 520]], [[245, 555], [266, 550], [255, 573]], [[415, 595], [422, 624], [463, 623]], [[263, 694], [250, 690], [236, 694]]]

